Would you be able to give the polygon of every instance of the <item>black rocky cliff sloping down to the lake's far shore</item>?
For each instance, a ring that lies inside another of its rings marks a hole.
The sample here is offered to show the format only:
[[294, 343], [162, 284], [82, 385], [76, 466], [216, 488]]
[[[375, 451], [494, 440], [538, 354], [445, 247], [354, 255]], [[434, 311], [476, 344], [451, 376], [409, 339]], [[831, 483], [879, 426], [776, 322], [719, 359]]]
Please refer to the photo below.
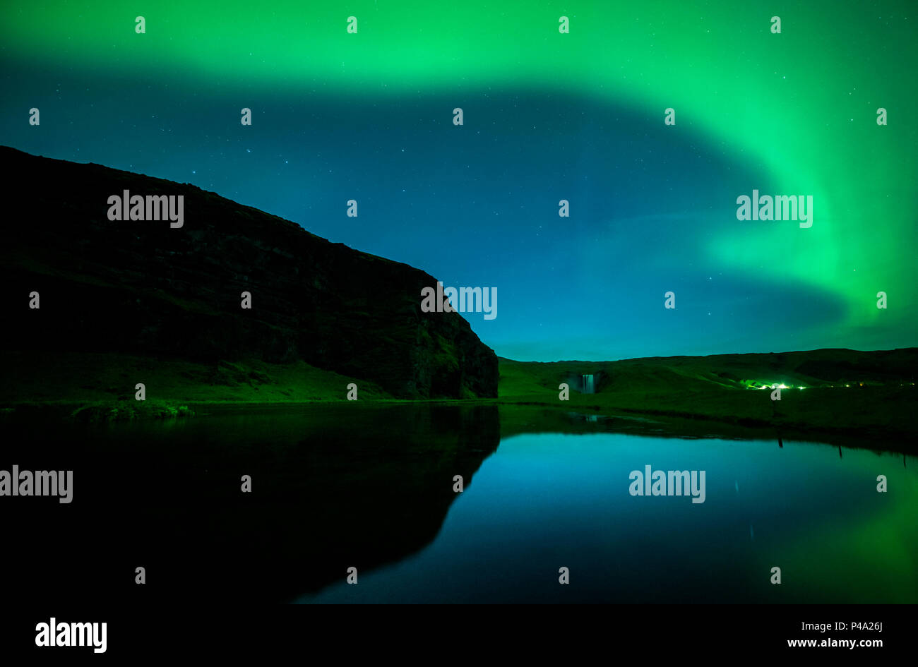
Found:
[[[399, 397], [497, 395], [497, 357], [465, 319], [421, 312], [425, 272], [193, 185], [5, 147], [0, 163], [7, 350], [301, 359]], [[125, 190], [184, 195], [183, 226], [109, 220]]]

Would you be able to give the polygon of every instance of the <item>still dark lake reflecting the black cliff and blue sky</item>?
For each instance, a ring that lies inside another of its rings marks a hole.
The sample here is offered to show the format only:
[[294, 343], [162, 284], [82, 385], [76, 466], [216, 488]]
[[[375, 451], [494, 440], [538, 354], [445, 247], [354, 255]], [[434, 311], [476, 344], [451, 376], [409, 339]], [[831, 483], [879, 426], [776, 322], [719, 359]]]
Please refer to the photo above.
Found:
[[[3, 417], [0, 470], [74, 471], [70, 505], [0, 497], [6, 595], [918, 602], [918, 461], [901, 453], [687, 439], [532, 407], [200, 412], [99, 426]], [[704, 502], [631, 495], [629, 473], [646, 465], [704, 471]]]

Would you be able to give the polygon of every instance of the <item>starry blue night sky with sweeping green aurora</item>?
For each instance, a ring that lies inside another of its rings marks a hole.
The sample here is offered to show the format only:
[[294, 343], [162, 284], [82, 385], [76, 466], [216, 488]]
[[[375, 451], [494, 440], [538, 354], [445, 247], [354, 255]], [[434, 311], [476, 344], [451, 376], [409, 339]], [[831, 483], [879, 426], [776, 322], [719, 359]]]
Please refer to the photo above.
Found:
[[616, 5], [7, 1], [0, 144], [497, 287], [465, 317], [513, 359], [918, 344], [913, 2]]

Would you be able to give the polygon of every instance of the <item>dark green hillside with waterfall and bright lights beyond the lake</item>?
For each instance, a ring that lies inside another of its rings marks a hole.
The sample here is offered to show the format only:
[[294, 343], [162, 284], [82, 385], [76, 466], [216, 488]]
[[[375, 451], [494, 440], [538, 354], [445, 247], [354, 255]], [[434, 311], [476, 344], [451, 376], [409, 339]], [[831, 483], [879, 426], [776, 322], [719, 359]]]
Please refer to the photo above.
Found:
[[[584, 374], [594, 394], [584, 393]], [[501, 403], [602, 414], [714, 419], [745, 427], [845, 432], [883, 446], [912, 447], [918, 436], [918, 348], [810, 350], [623, 361], [500, 360]], [[559, 399], [559, 384], [570, 387]], [[787, 387], [771, 400], [772, 384]], [[787, 431], [785, 431], [787, 432]]]

